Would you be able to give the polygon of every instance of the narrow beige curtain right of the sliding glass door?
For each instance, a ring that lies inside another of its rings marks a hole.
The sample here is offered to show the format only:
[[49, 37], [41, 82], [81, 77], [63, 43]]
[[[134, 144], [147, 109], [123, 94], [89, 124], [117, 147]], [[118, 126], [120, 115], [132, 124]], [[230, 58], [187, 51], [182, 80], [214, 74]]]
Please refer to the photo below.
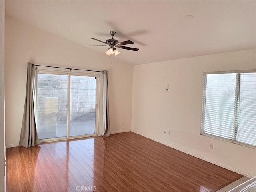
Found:
[[108, 105], [108, 71], [104, 71], [102, 76], [102, 105], [103, 105], [103, 137], [110, 136], [110, 122], [109, 122], [109, 105]]

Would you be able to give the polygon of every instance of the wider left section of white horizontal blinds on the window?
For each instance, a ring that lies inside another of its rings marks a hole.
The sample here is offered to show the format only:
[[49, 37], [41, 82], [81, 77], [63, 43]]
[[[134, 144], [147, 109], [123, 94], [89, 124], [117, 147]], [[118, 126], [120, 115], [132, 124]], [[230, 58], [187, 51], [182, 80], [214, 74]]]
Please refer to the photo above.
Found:
[[236, 74], [207, 74], [204, 93], [204, 133], [233, 139]]

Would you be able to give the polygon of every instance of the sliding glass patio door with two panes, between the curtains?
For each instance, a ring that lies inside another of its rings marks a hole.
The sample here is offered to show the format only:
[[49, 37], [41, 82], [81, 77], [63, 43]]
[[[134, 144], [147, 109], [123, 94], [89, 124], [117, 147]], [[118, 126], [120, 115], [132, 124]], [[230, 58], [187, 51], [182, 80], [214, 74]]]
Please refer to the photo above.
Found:
[[98, 75], [37, 73], [37, 128], [41, 140], [96, 134]]

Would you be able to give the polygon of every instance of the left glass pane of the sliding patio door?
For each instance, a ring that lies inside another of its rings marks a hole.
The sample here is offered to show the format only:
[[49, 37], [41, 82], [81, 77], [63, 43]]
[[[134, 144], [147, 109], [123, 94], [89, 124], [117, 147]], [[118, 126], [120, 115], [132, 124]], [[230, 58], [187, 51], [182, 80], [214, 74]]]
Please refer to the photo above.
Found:
[[68, 76], [38, 74], [37, 126], [39, 139], [66, 137]]

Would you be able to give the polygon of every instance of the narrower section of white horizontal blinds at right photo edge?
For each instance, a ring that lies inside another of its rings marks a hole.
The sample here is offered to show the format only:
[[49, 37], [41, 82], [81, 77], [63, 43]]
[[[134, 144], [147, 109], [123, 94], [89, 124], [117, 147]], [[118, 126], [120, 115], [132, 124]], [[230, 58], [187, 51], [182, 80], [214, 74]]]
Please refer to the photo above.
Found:
[[256, 146], [256, 73], [240, 74], [236, 140]]

